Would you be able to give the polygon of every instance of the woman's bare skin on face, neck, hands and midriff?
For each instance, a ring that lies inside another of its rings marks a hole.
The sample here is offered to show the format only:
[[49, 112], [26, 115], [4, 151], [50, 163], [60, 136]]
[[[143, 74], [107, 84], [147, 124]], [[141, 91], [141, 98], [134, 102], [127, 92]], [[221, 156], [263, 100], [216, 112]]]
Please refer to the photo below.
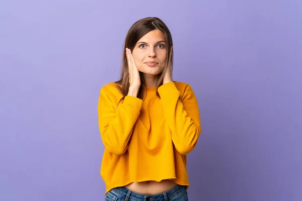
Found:
[[[171, 49], [172, 50], [172, 49]], [[172, 52], [172, 51], [171, 51]], [[129, 66], [129, 92], [128, 95], [137, 96], [140, 87], [139, 71], [143, 72], [146, 86], [155, 87], [158, 76], [163, 72], [167, 59], [167, 48], [164, 33], [160, 30], [153, 30], [144, 35], [135, 45], [132, 53], [126, 48], [127, 62]], [[170, 54], [171, 58], [171, 54]], [[169, 61], [171, 59], [169, 58]], [[155, 61], [156, 66], [148, 66], [146, 62]], [[171, 62], [164, 75], [163, 83], [172, 81]], [[165, 192], [177, 184], [171, 180], [133, 182], [125, 187], [142, 194], [157, 194]]]

